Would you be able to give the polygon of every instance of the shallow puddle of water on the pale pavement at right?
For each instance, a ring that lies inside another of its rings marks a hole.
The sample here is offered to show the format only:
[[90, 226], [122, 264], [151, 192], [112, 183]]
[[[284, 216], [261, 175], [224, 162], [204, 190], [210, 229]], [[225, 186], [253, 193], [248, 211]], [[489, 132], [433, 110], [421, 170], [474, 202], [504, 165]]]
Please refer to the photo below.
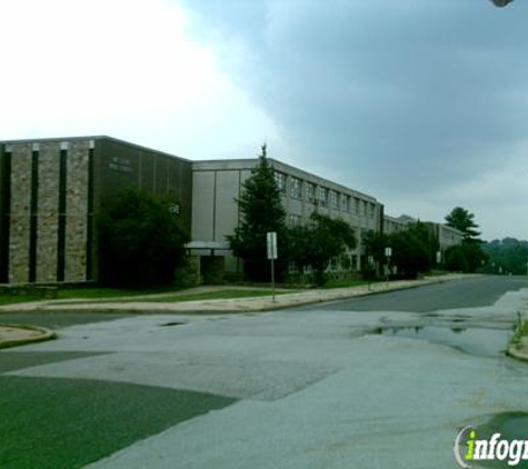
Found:
[[466, 328], [460, 326], [383, 327], [373, 333], [388, 337], [428, 340], [480, 357], [497, 357], [505, 353], [511, 331], [499, 329]]

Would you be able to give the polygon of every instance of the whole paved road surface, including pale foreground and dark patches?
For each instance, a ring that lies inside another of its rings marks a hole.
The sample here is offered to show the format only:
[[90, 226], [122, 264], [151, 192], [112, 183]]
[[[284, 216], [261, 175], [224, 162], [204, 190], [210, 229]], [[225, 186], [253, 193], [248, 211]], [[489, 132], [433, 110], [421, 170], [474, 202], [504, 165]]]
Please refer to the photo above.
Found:
[[528, 411], [528, 365], [501, 353], [522, 308], [528, 280], [477, 278], [260, 315], [10, 315], [60, 337], [0, 351], [0, 467], [451, 468], [459, 428]]

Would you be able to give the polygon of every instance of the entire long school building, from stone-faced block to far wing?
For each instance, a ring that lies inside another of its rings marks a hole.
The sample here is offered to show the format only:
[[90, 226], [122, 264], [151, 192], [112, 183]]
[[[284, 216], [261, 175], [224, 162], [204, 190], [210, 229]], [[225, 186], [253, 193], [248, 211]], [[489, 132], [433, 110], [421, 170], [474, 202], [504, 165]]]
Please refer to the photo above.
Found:
[[[0, 283], [97, 280], [96, 217], [126, 187], [170, 197], [191, 232], [190, 252], [240, 272], [241, 261], [229, 250], [227, 236], [240, 222], [236, 199], [258, 161], [190, 161], [109, 137], [2, 141]], [[383, 206], [371, 196], [269, 161], [290, 227], [306, 223], [317, 208], [356, 230], [359, 242], [347, 255], [349, 270], [361, 267], [366, 231], [391, 233], [415, 221], [383, 216]], [[428, 224], [442, 250], [461, 241], [459, 231]]]

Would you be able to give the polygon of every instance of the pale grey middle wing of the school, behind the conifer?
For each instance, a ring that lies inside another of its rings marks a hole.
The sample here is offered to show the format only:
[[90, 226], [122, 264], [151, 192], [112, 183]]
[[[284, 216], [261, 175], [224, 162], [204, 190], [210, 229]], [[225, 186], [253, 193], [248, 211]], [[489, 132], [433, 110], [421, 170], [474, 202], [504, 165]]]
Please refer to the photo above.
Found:
[[[281, 161], [269, 159], [282, 191], [287, 223], [306, 223], [316, 209], [340, 217], [355, 229], [358, 248], [350, 252], [352, 268], [360, 267], [361, 234], [381, 229], [382, 206], [371, 196], [331, 182]], [[258, 159], [195, 161], [192, 163], [192, 253], [221, 256], [227, 271], [240, 271], [241, 263], [229, 251], [226, 240], [240, 221], [236, 199]]]

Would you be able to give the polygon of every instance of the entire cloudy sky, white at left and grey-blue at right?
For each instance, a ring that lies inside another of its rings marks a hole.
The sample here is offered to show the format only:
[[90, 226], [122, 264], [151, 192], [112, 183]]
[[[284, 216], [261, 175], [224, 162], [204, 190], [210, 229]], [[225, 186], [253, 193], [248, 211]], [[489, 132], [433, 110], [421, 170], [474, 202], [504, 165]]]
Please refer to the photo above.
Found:
[[528, 239], [528, 2], [0, 0], [0, 140], [269, 154]]

